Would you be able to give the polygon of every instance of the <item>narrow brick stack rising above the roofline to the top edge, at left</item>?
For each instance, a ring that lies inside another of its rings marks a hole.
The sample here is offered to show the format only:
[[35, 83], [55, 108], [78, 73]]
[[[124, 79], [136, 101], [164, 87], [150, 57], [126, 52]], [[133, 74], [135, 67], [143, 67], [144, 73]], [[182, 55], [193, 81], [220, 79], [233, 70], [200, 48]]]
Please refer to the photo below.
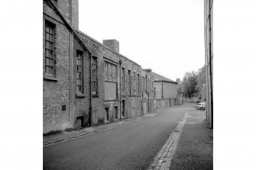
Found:
[[78, 0], [69, 0], [69, 8], [70, 8], [70, 21], [71, 26], [78, 30], [79, 25], [79, 8], [78, 8]]

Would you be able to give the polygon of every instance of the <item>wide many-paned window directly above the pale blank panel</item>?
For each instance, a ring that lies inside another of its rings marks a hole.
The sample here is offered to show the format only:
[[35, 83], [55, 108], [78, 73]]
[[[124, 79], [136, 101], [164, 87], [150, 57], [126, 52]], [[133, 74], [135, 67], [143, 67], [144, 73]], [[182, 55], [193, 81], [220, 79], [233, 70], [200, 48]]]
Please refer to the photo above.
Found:
[[117, 66], [115, 64], [105, 61], [104, 72], [106, 81], [117, 82]]

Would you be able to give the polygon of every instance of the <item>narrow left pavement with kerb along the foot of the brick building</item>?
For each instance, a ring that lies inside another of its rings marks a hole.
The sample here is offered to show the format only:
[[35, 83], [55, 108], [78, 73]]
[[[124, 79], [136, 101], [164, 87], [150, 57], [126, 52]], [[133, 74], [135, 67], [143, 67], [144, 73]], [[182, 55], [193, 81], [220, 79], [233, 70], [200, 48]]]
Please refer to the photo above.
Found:
[[130, 119], [123, 119], [122, 121], [116, 121], [113, 123], [101, 124], [99, 126], [85, 127], [85, 128], [79, 129], [79, 130], [63, 131], [60, 133], [53, 133], [50, 135], [46, 135], [46, 136], [43, 136], [43, 146], [50, 146], [50, 145], [54, 145], [57, 143], [62, 143], [66, 140], [73, 140], [78, 137], [90, 135], [90, 134], [101, 132], [104, 130], [110, 130], [112, 128], [120, 127], [120, 126], [128, 124], [128, 123], [134, 123], [134, 122], [137, 122], [140, 120], [151, 118], [151, 117], [154, 117], [155, 115], [157, 115], [159, 113], [159, 111], [162, 111], [164, 109], [166, 109], [166, 108], [157, 109], [154, 112], [144, 114], [141, 117], [133, 117]]

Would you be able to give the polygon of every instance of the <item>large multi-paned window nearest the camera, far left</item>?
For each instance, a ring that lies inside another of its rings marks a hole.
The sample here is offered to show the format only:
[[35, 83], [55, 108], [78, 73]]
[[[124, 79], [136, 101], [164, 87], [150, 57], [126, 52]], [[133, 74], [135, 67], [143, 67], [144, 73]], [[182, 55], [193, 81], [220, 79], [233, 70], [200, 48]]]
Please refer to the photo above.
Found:
[[55, 24], [45, 21], [45, 48], [44, 48], [44, 71], [45, 75], [54, 77], [56, 75], [56, 59], [53, 52]]

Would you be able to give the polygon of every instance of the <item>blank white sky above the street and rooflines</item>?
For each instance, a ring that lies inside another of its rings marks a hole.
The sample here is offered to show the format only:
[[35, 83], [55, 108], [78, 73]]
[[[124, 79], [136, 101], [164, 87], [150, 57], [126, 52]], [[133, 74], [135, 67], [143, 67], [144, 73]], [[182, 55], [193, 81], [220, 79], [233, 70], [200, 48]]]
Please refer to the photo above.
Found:
[[203, 0], [79, 1], [79, 30], [176, 81], [204, 65]]

